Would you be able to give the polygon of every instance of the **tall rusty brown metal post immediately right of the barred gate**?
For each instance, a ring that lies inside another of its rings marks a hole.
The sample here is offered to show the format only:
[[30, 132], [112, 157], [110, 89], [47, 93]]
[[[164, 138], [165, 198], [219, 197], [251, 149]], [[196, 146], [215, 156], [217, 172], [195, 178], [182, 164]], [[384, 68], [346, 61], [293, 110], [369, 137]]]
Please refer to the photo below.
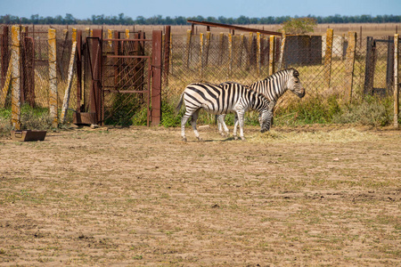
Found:
[[161, 61], [162, 32], [152, 32], [152, 83], [151, 83], [151, 125], [159, 125], [161, 119]]

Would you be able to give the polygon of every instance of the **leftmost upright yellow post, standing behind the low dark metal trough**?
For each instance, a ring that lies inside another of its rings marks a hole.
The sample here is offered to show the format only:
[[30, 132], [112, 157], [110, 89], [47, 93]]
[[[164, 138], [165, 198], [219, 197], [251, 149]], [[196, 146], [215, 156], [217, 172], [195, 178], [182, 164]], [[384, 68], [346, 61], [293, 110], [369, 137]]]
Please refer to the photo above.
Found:
[[12, 26], [12, 129], [20, 130], [20, 26]]

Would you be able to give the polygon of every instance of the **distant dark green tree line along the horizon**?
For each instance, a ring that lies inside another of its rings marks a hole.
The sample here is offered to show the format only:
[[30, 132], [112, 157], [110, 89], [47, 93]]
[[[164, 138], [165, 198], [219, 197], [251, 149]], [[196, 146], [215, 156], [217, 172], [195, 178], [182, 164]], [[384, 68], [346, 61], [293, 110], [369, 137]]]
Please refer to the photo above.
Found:
[[[295, 17], [299, 18], [299, 17]], [[317, 23], [385, 23], [385, 22], [401, 22], [401, 15], [356, 15], [356, 16], [341, 16], [339, 14], [321, 17], [309, 15], [307, 18], [314, 19]], [[248, 24], [282, 24], [287, 20], [291, 20], [290, 16], [281, 17], [263, 17], [263, 18], [249, 18], [246, 16], [240, 16], [239, 18], [225, 18], [219, 17], [183, 17], [178, 16], [162, 17], [161, 15], [152, 16], [151, 18], [144, 18], [143, 16], [137, 16], [135, 19], [127, 17], [124, 13], [120, 13], [118, 16], [105, 16], [105, 15], [92, 15], [89, 19], [77, 19], [72, 14], [67, 13], [64, 17], [57, 15], [55, 17], [42, 17], [38, 14], [31, 15], [30, 18], [13, 16], [10, 14], [0, 16], [0, 23], [3, 24], [61, 24], [61, 25], [187, 25], [186, 20], [199, 20], [209, 21], [225, 24], [237, 24], [237, 25], [248, 25]]]

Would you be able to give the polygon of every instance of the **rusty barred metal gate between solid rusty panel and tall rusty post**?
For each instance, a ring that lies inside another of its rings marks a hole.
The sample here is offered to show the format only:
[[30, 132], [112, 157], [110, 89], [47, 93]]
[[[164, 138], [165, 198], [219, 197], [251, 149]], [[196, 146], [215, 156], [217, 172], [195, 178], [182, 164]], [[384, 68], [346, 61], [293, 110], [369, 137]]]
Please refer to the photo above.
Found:
[[[151, 56], [145, 54], [143, 32], [134, 39], [104, 39], [102, 63], [103, 122], [106, 125], [130, 125], [137, 110], [146, 110], [146, 124], [151, 117]], [[146, 107], [146, 108], [144, 108]]]

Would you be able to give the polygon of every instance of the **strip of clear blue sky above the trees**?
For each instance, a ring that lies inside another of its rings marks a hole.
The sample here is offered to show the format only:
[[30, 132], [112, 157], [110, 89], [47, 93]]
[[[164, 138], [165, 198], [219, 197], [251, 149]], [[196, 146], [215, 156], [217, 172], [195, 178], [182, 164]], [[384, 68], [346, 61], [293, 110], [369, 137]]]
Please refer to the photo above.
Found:
[[[153, 7], [151, 7], [153, 5]], [[92, 15], [118, 16], [135, 19], [161, 15], [205, 18], [223, 16], [250, 18], [280, 16], [323, 16], [340, 14], [355, 15], [400, 15], [401, 0], [0, 0], [0, 15], [12, 14], [29, 18], [32, 14], [42, 17], [72, 14], [77, 19]]]

